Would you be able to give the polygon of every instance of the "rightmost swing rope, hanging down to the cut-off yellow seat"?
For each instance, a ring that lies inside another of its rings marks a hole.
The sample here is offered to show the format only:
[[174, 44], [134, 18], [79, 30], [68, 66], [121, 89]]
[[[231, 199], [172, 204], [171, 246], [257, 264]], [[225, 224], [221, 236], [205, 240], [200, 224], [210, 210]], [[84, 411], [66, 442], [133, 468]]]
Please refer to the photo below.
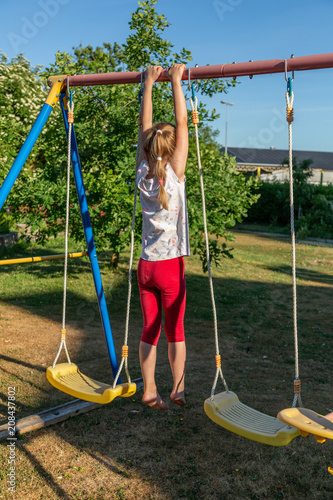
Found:
[[292, 91], [292, 79], [287, 80], [287, 122], [289, 135], [289, 191], [290, 191], [290, 228], [291, 228], [291, 248], [292, 248], [292, 282], [293, 282], [293, 322], [294, 322], [294, 345], [295, 345], [295, 380], [294, 380], [294, 401], [293, 408], [297, 402], [303, 407], [301, 399], [301, 381], [299, 378], [298, 361], [298, 328], [297, 328], [297, 286], [296, 286], [296, 237], [295, 237], [295, 215], [294, 215], [294, 179], [293, 179], [293, 137], [292, 122], [294, 120], [294, 92]]

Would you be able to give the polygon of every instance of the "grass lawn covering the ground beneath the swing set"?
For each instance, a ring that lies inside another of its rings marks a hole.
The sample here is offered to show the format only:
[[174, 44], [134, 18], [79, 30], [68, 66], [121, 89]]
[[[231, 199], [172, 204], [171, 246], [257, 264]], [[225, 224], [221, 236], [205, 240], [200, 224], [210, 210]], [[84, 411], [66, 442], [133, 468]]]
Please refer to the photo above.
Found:
[[[2, 258], [62, 253], [61, 240], [2, 251]], [[236, 234], [234, 258], [214, 268], [224, 375], [240, 400], [270, 415], [293, 399], [294, 341], [290, 245], [286, 240]], [[71, 244], [71, 251], [75, 246]], [[100, 256], [111, 326], [119, 352], [124, 333], [128, 254], [111, 272]], [[136, 260], [137, 262], [137, 260]], [[135, 264], [136, 265], [136, 264]], [[333, 249], [297, 248], [298, 329], [303, 402], [333, 410]], [[17, 415], [30, 415], [70, 398], [47, 383], [45, 368], [60, 340], [63, 262], [0, 267], [0, 412], [17, 386]], [[134, 273], [135, 277], [135, 273]], [[332, 442], [313, 437], [272, 448], [236, 436], [203, 412], [215, 373], [214, 332], [207, 276], [186, 260], [187, 405], [154, 412], [142, 392], [85, 415], [23, 435], [18, 442], [16, 498], [77, 499], [324, 499], [333, 497]], [[90, 266], [69, 261], [68, 344], [82, 371], [108, 380], [109, 366]], [[130, 371], [140, 375], [142, 328], [136, 280], [130, 319]], [[171, 374], [161, 336], [156, 371], [168, 398]], [[218, 392], [222, 384], [219, 382]], [[7, 450], [0, 449], [1, 479]], [[0, 496], [7, 494], [4, 481]]]

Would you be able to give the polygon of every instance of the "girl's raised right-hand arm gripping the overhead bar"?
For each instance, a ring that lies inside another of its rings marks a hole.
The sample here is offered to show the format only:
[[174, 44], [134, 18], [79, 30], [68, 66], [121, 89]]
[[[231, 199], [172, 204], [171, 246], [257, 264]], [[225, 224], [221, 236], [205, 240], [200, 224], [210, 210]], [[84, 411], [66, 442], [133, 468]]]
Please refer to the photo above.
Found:
[[170, 159], [170, 165], [180, 181], [184, 181], [186, 160], [188, 154], [187, 109], [181, 78], [186, 66], [174, 64], [168, 70], [173, 93], [173, 105], [176, 120], [176, 148]]

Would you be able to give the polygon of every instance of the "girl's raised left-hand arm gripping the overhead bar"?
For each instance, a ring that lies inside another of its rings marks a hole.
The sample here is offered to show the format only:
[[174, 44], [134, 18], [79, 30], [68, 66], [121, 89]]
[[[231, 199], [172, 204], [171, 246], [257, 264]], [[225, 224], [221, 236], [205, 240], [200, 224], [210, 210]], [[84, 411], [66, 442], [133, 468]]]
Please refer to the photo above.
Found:
[[139, 165], [145, 158], [145, 152], [143, 150], [143, 143], [145, 141], [146, 133], [153, 126], [153, 102], [152, 102], [152, 89], [153, 85], [162, 73], [162, 66], [151, 66], [145, 72], [145, 83], [142, 97], [142, 129], [141, 129], [141, 140], [140, 140], [140, 153], [139, 153]]

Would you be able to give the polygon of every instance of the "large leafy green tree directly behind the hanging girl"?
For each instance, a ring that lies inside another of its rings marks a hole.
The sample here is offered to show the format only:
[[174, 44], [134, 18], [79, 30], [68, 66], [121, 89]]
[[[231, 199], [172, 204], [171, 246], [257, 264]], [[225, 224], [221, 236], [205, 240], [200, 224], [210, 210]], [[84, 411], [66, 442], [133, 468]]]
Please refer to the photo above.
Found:
[[[56, 59], [39, 76], [46, 81], [50, 74], [82, 74], [141, 70], [151, 64], [163, 67], [175, 62], [187, 64], [191, 53], [185, 48], [173, 52], [173, 46], [162, 35], [169, 26], [163, 15], [155, 9], [157, 0], [139, 2], [129, 23], [131, 34], [122, 46], [104, 43], [102, 47], [79, 46], [73, 54], [56, 54]], [[234, 82], [206, 80], [200, 83], [198, 92], [212, 96], [225, 92]], [[128, 245], [133, 206], [135, 176], [135, 147], [139, 113], [140, 85], [113, 85], [107, 87], [81, 87], [75, 89], [75, 131], [80, 150], [83, 176], [88, 193], [90, 215], [96, 246], [99, 250], [111, 248], [117, 263], [119, 253]], [[173, 99], [168, 83], [154, 86], [154, 120], [173, 120]], [[207, 171], [209, 230], [215, 236], [212, 257], [216, 262], [221, 255], [228, 255], [226, 245], [217, 238], [230, 239], [225, 228], [246, 213], [246, 207], [256, 199], [251, 194], [253, 181], [246, 181], [234, 172], [231, 160], [224, 161], [218, 146], [209, 137], [214, 135], [209, 123], [219, 115], [208, 111], [200, 103], [203, 139], [203, 164]], [[11, 195], [10, 204], [15, 210], [23, 205], [29, 208], [25, 214], [27, 224], [37, 230], [43, 241], [49, 235], [63, 230], [65, 213], [66, 144], [60, 113], [54, 114], [54, 127], [47, 128], [37, 147], [42, 152], [33, 161], [33, 175], [21, 184], [18, 196]], [[194, 183], [191, 165], [194, 163], [193, 131], [190, 132], [188, 190], [190, 208], [190, 233], [192, 249], [203, 256], [202, 228], [199, 226], [201, 200]], [[212, 182], [211, 182], [212, 181]], [[193, 186], [192, 186], [193, 182]], [[26, 186], [29, 186], [29, 190]], [[214, 187], [214, 190], [212, 189]], [[79, 245], [84, 245], [83, 229], [74, 188], [71, 193], [70, 232]], [[237, 198], [237, 200], [236, 200]], [[19, 212], [15, 212], [19, 213]], [[44, 224], [41, 224], [44, 221]], [[141, 241], [141, 214], [136, 218], [136, 241]]]

